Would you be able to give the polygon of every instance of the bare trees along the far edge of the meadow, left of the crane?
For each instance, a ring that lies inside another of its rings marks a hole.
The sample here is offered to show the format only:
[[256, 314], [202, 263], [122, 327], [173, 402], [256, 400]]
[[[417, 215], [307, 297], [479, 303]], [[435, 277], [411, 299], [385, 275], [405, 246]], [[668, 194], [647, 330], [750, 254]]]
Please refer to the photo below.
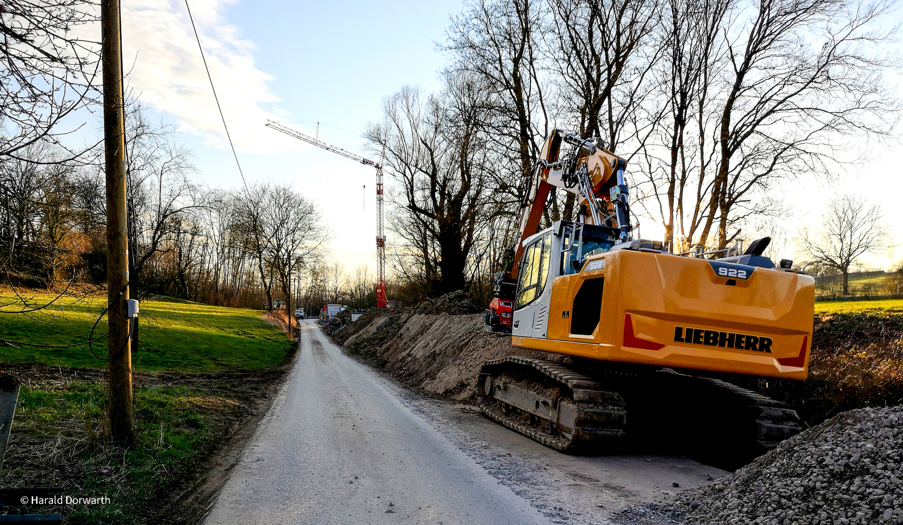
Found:
[[[329, 236], [312, 201], [286, 184], [209, 189], [172, 127], [150, 123], [138, 102], [126, 123], [133, 294], [270, 309], [274, 298], [290, 299], [297, 274], [321, 263]], [[102, 163], [67, 158], [56, 145], [34, 143], [0, 161], [6, 284], [103, 286], [104, 196]]]

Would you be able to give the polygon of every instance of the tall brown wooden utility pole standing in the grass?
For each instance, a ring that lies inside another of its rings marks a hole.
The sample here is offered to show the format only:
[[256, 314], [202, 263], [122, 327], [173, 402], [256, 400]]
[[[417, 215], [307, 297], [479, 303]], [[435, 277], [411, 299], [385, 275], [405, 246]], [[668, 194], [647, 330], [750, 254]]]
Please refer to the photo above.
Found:
[[102, 0], [101, 59], [104, 80], [104, 151], [107, 161], [107, 326], [109, 335], [110, 439], [130, 446], [135, 411], [132, 406], [132, 349], [129, 342], [128, 237], [126, 236], [126, 115], [122, 86], [119, 0]]

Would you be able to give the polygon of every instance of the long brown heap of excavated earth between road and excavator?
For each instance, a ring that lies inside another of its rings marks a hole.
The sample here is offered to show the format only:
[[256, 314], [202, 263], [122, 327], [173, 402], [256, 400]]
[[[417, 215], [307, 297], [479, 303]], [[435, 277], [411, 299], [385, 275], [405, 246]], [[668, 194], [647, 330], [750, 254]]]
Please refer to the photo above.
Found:
[[[483, 316], [462, 291], [405, 309], [370, 310], [333, 334], [349, 355], [385, 370], [417, 391], [471, 398], [483, 362], [505, 355], [561, 361], [562, 355], [516, 348], [511, 337], [489, 334]], [[466, 315], [462, 314], [466, 312]]]

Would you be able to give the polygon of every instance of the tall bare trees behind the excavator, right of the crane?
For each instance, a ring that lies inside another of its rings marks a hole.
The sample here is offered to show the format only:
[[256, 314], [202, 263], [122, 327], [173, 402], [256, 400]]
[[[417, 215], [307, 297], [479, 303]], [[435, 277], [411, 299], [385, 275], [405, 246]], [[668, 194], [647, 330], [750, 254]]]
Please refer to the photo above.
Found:
[[[414, 295], [488, 296], [553, 128], [628, 161], [638, 223], [674, 253], [727, 247], [787, 216], [781, 183], [841, 176], [898, 115], [892, 3], [469, 0], [443, 88], [405, 87], [368, 127], [396, 176], [395, 272]], [[553, 190], [545, 227], [573, 219]]]

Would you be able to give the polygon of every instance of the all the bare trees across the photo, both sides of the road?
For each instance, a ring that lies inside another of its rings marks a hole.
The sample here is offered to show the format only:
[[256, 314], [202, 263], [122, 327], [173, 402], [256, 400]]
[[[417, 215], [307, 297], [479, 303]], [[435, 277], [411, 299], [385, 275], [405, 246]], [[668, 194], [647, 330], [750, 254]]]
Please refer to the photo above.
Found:
[[[895, 123], [884, 77], [896, 67], [885, 46], [896, 28], [882, 25], [892, 6], [468, 0], [441, 44], [442, 89], [402, 88], [365, 132], [396, 181], [390, 299], [461, 289], [489, 299], [556, 127], [627, 159], [632, 220], [661, 226], [675, 253], [723, 249], [784, 216], [783, 180], [845, 173], [860, 154], [850, 144]], [[97, 23], [93, 7], [15, 0], [0, 11], [8, 285], [103, 281], [98, 147], [63, 140], [98, 100], [98, 42], [78, 36]], [[372, 302], [363, 290], [373, 276], [324, 260], [328, 232], [309, 199], [278, 184], [210, 189], [175, 130], [149, 122], [140, 102], [126, 123], [136, 293], [256, 308], [278, 298]], [[546, 204], [540, 227], [577, 212], [571, 194], [553, 191]]]

